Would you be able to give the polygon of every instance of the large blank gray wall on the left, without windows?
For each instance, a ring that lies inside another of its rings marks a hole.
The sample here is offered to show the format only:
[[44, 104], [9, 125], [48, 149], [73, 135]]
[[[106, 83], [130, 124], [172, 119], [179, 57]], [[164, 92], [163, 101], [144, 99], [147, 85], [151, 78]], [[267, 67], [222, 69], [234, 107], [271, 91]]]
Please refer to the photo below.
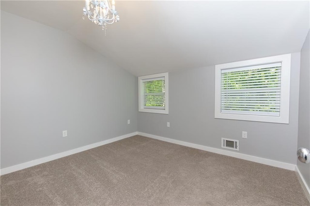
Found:
[[136, 132], [137, 87], [72, 36], [1, 11], [1, 168]]

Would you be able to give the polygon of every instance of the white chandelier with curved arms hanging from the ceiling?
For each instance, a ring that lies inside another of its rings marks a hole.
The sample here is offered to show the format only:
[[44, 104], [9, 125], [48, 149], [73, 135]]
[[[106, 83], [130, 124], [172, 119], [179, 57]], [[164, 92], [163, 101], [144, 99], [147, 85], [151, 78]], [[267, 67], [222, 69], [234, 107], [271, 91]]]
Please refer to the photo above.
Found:
[[107, 24], [113, 24], [120, 20], [120, 16], [115, 10], [115, 0], [112, 0], [111, 4], [109, 0], [85, 0], [83, 19], [87, 15], [89, 20], [101, 26], [102, 30], [107, 30]]

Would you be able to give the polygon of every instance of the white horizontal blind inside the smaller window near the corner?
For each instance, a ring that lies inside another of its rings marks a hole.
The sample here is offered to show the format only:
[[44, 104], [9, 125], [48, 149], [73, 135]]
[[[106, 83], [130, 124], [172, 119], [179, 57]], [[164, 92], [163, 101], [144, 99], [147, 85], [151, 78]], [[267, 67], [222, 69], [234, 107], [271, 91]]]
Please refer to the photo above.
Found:
[[165, 109], [165, 78], [142, 80], [143, 108]]

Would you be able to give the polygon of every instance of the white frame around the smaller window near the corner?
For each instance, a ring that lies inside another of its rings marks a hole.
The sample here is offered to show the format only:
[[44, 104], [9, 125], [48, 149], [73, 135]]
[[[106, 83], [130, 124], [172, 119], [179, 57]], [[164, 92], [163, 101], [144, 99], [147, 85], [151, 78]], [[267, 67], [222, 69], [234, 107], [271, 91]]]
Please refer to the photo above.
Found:
[[[146, 79], [154, 78], [164, 78], [165, 79], [165, 109], [150, 109], [143, 107], [143, 81]], [[149, 112], [149, 113], [158, 113], [158, 114], [169, 114], [169, 75], [168, 73], [160, 74], [150, 74], [145, 76], [138, 77], [138, 89], [139, 89], [139, 112]]]

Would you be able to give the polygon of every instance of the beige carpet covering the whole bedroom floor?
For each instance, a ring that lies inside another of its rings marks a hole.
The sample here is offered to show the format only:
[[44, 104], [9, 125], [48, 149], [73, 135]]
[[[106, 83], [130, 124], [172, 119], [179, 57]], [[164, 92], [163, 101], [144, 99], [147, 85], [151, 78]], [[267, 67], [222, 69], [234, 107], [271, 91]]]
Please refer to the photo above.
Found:
[[294, 171], [133, 136], [1, 176], [5, 205], [310, 205]]

